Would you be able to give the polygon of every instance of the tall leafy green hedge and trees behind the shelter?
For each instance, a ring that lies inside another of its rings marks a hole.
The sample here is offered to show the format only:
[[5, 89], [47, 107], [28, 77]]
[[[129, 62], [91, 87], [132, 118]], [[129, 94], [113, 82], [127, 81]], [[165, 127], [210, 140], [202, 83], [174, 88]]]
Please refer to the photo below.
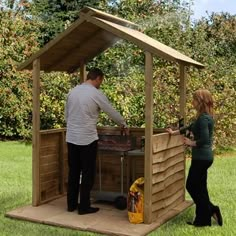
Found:
[[[11, 4], [10, 4], [11, 3]], [[206, 65], [188, 68], [187, 118], [194, 117], [192, 93], [209, 89], [215, 99], [217, 147], [235, 145], [236, 131], [236, 16], [209, 15], [191, 21], [190, 1], [5, 1], [0, 10], [0, 136], [31, 136], [31, 72], [17, 65], [78, 18], [89, 5], [131, 20], [158, 41]], [[132, 127], [144, 126], [144, 53], [137, 46], [119, 41], [88, 64], [106, 74], [102, 90]], [[163, 128], [179, 117], [179, 68], [154, 59], [154, 126]], [[65, 126], [66, 94], [79, 81], [79, 74], [42, 73], [41, 128]], [[99, 125], [114, 125], [101, 114]]]

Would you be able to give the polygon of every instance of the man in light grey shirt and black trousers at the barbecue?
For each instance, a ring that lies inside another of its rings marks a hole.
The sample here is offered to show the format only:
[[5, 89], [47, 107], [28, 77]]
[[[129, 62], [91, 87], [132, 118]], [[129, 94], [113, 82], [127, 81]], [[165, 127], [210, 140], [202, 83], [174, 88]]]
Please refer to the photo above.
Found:
[[[124, 118], [99, 90], [103, 78], [104, 74], [100, 69], [90, 70], [87, 80], [69, 92], [66, 102], [66, 142], [69, 166], [67, 210], [72, 212], [78, 207], [80, 215], [95, 213], [99, 210], [99, 208], [91, 207], [90, 192], [96, 172], [97, 119], [100, 110], [107, 113], [128, 134]], [[79, 185], [80, 174], [82, 174], [81, 185]]]

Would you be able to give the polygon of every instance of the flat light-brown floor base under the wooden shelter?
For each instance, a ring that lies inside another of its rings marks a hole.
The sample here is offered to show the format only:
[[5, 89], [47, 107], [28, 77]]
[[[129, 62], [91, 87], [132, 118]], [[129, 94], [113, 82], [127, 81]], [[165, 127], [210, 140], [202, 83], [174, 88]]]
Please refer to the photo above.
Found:
[[32, 207], [24, 206], [6, 213], [7, 217], [32, 221], [41, 224], [60, 226], [81, 231], [97, 232], [106, 235], [141, 236], [147, 235], [160, 225], [181, 213], [192, 202], [186, 201], [165, 215], [159, 222], [152, 224], [129, 223], [127, 211], [118, 210], [113, 205], [97, 203], [100, 207], [95, 214], [78, 215], [66, 211], [66, 198], [60, 198], [47, 204]]

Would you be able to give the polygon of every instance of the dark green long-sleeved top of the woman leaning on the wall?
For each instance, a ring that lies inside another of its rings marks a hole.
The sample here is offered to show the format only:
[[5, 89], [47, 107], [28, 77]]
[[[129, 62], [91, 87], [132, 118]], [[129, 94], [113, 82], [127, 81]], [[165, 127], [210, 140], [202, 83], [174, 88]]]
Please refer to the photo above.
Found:
[[213, 161], [213, 129], [214, 120], [212, 116], [202, 113], [190, 126], [180, 130], [181, 134], [189, 130], [194, 136], [197, 146], [192, 147], [192, 160]]

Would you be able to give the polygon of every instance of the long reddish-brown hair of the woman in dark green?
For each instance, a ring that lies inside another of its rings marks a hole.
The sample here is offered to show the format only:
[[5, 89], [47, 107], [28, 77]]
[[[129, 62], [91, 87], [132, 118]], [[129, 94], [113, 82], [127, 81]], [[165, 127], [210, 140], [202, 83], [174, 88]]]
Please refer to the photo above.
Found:
[[207, 89], [198, 89], [195, 91], [193, 99], [198, 103], [196, 107], [197, 116], [200, 116], [202, 113], [207, 113], [213, 116], [213, 98]]

